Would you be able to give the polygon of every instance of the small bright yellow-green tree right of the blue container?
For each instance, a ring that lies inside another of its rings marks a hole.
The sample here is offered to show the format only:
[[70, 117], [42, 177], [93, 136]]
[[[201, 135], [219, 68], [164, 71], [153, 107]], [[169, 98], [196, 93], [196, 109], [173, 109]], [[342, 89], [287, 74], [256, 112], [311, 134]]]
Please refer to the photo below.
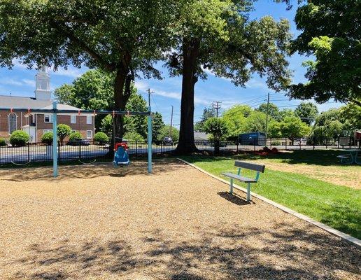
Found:
[[282, 136], [288, 137], [293, 145], [296, 137], [304, 137], [308, 135], [311, 130], [299, 117], [290, 116], [285, 117], [280, 123], [280, 131]]

